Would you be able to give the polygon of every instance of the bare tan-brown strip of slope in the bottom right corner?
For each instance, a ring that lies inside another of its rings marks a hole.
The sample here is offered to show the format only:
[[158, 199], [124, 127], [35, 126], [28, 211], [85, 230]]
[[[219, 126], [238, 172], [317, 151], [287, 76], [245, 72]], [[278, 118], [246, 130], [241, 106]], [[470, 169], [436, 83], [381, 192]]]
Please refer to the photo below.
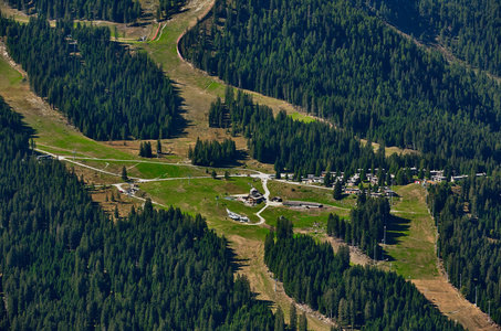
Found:
[[435, 279], [414, 279], [413, 284], [425, 297], [438, 306], [449, 319], [456, 320], [468, 330], [500, 330], [487, 313], [466, 300], [459, 291], [447, 282], [443, 276]]

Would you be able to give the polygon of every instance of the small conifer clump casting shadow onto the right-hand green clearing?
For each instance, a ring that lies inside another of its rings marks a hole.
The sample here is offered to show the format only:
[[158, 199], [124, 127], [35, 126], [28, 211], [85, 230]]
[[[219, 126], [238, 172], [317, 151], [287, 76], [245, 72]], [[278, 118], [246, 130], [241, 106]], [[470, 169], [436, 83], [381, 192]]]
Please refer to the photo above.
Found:
[[367, 256], [380, 259], [384, 226], [392, 220], [389, 203], [385, 197], [358, 195], [356, 207], [349, 212], [349, 222], [330, 214], [327, 235], [342, 238], [345, 243], [358, 246]]

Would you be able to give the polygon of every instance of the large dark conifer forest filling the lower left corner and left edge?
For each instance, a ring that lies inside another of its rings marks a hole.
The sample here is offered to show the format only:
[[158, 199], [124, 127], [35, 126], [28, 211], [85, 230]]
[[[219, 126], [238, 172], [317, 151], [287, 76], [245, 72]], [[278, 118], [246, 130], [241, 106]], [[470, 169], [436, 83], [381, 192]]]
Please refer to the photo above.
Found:
[[111, 220], [28, 139], [0, 98], [0, 329], [274, 329], [200, 215], [147, 201]]

